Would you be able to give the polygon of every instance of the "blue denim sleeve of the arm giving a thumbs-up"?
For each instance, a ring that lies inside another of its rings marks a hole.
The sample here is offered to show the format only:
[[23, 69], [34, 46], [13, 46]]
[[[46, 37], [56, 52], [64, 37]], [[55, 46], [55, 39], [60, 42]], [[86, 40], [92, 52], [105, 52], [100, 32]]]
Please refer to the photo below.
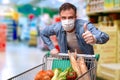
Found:
[[100, 31], [92, 23], [88, 23], [87, 27], [88, 27], [89, 31], [96, 38], [96, 44], [104, 44], [109, 40], [109, 35], [106, 34], [105, 32]]

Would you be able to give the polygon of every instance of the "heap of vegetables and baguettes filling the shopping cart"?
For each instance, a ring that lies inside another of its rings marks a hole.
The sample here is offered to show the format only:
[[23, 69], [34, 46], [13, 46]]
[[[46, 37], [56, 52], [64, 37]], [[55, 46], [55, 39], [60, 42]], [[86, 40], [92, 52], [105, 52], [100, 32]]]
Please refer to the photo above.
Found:
[[[62, 71], [60, 68], [53, 70], [40, 70], [34, 80], [75, 80], [77, 77], [88, 71], [83, 57], [77, 58], [77, 52], [70, 53], [68, 51], [71, 66]], [[90, 75], [87, 73], [80, 80], [90, 80]]]

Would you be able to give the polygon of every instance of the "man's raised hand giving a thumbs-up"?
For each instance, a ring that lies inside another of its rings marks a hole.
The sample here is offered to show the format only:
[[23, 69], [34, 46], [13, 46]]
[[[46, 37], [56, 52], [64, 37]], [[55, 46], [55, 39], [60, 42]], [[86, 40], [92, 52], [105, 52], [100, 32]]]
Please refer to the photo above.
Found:
[[87, 29], [87, 24], [85, 23], [83, 27], [84, 27], [85, 32], [82, 34], [82, 37], [84, 38], [85, 42], [91, 45], [95, 44], [96, 39], [93, 36], [93, 34]]

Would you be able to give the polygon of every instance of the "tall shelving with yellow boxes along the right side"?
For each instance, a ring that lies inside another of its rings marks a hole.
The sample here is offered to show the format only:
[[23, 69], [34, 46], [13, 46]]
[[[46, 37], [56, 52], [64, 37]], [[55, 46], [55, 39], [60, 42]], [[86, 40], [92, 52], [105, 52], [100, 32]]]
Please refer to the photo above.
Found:
[[[118, 76], [120, 75], [120, 69], [116, 70], [116, 68], [113, 68], [111, 73], [111, 69], [109, 69], [109, 67], [113, 66], [112, 64], [118, 65], [120, 63], [120, 57], [118, 57], [120, 56], [120, 2], [119, 4], [117, 3], [116, 7], [114, 1], [119, 0], [111, 0], [111, 2], [109, 0], [107, 6], [105, 1], [108, 0], [88, 0], [86, 9], [89, 20], [110, 37], [110, 40], [106, 44], [94, 46], [95, 53], [101, 55], [98, 62], [97, 75], [107, 80], [120, 80]], [[99, 20], [101, 17], [102, 20]], [[112, 22], [112, 25], [108, 22]], [[108, 65], [103, 66], [103, 64]]]

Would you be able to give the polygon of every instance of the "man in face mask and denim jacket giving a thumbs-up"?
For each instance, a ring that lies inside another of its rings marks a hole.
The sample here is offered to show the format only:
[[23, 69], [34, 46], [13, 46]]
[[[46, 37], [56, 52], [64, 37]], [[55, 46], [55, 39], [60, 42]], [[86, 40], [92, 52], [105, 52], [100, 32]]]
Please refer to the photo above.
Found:
[[[64, 3], [59, 9], [61, 22], [41, 31], [41, 37], [48, 45], [51, 54], [67, 53], [68, 50], [75, 49], [79, 54], [94, 54], [93, 44], [103, 44], [109, 40], [109, 36], [92, 23], [77, 19], [76, 13], [74, 5]], [[51, 42], [51, 35], [56, 35], [60, 52]]]

